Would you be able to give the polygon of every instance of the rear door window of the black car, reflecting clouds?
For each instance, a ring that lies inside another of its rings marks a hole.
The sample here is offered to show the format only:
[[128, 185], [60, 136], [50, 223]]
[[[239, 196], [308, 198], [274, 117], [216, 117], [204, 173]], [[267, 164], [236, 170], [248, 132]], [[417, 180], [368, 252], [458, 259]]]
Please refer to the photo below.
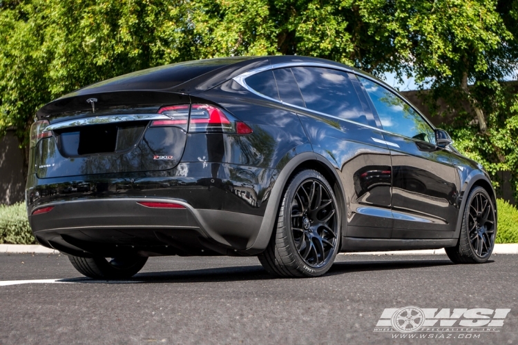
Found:
[[342, 119], [376, 126], [372, 114], [365, 114], [347, 72], [329, 68], [291, 68], [306, 108]]

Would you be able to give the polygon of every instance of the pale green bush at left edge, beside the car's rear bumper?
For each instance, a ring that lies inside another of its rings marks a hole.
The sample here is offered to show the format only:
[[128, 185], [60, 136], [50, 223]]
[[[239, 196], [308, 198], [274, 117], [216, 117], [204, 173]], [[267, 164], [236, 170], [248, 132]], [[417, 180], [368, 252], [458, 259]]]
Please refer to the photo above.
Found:
[[36, 244], [25, 204], [0, 205], [0, 244]]

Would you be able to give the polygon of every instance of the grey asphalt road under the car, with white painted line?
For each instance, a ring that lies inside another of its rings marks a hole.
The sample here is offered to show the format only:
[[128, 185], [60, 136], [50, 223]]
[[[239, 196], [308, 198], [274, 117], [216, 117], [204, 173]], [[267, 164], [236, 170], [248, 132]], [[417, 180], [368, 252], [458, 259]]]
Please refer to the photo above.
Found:
[[[0, 344], [518, 344], [518, 255], [338, 255], [315, 279], [272, 278], [255, 257], [155, 257], [127, 282], [81, 278], [58, 255], [0, 268]], [[33, 279], [62, 280], [19, 282]], [[374, 332], [404, 306], [511, 311], [498, 332]]]

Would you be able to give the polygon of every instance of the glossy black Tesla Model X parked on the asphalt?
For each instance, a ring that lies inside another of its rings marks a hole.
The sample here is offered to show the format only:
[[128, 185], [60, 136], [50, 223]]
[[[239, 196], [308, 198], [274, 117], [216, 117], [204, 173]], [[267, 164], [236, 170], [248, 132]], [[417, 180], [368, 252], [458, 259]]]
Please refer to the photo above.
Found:
[[482, 263], [495, 244], [482, 166], [390, 86], [333, 61], [134, 72], [48, 103], [30, 139], [32, 231], [88, 277], [130, 277], [157, 255], [257, 255], [271, 274], [315, 277], [339, 252]]

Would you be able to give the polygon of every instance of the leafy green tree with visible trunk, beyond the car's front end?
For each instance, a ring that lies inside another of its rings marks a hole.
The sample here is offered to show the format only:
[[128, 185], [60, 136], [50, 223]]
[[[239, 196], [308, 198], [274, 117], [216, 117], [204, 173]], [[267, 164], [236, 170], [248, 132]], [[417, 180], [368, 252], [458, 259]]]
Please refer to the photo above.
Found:
[[[455, 115], [448, 126], [456, 146], [496, 172], [512, 172], [518, 196], [518, 97], [503, 80], [517, 70], [517, 1], [364, 1], [370, 33], [400, 50], [395, 65], [378, 71], [412, 74], [436, 115]], [[392, 57], [392, 55], [390, 55]], [[401, 66], [403, 65], [403, 66]], [[428, 82], [425, 82], [428, 81]], [[442, 114], [438, 99], [448, 106]], [[448, 114], [450, 113], [450, 114]]]

